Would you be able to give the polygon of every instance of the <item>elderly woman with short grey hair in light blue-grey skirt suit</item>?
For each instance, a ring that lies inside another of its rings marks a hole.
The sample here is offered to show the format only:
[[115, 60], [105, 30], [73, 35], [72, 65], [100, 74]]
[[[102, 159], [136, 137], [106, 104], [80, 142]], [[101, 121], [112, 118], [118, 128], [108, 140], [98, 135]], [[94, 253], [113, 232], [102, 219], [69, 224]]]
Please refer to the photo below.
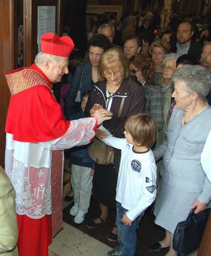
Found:
[[211, 77], [199, 65], [185, 65], [175, 71], [172, 80], [176, 106], [166, 141], [154, 150], [156, 159], [163, 157], [155, 223], [165, 228], [166, 237], [150, 246], [152, 253], [170, 247], [168, 256], [177, 255], [173, 250], [177, 223], [186, 220], [195, 207], [196, 214], [206, 209], [211, 200], [211, 182], [200, 161], [211, 127], [211, 107], [205, 102]]

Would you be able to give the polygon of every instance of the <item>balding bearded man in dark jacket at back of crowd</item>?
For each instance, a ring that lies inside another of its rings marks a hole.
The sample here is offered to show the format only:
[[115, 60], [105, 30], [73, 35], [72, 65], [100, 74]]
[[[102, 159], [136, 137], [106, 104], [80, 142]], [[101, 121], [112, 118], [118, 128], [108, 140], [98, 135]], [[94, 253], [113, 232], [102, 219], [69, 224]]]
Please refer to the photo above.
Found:
[[177, 28], [177, 55], [193, 54], [196, 60], [200, 60], [202, 45], [193, 40], [194, 28], [191, 22], [184, 21]]

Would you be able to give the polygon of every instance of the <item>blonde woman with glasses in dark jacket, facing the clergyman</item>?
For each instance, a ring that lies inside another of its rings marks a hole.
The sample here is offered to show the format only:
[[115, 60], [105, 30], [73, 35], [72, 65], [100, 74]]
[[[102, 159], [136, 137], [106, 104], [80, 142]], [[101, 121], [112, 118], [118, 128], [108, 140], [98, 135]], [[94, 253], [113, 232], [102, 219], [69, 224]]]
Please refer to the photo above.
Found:
[[[143, 86], [130, 75], [129, 63], [124, 53], [117, 48], [106, 50], [98, 67], [98, 83], [91, 88], [85, 111], [90, 113], [94, 104], [104, 106], [113, 113], [113, 118], [103, 125], [117, 138], [124, 138], [124, 122], [126, 118], [145, 110], [145, 93]], [[105, 138], [106, 133], [98, 129], [98, 138]], [[109, 218], [108, 209], [115, 209], [115, 190], [120, 163], [120, 150], [114, 148], [112, 164], [96, 164], [93, 177], [93, 196], [100, 207], [88, 221], [88, 228], [96, 228]], [[117, 228], [113, 228], [108, 240], [117, 241]]]

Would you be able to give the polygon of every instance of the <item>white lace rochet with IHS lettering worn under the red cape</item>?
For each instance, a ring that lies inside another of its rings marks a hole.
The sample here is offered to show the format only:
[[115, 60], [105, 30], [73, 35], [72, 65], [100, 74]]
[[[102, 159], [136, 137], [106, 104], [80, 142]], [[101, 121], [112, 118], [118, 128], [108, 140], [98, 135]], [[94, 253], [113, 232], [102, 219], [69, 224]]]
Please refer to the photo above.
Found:
[[61, 138], [41, 143], [15, 141], [6, 134], [5, 171], [15, 188], [17, 214], [33, 219], [51, 214], [51, 152], [88, 144], [95, 124], [95, 118], [73, 120]]

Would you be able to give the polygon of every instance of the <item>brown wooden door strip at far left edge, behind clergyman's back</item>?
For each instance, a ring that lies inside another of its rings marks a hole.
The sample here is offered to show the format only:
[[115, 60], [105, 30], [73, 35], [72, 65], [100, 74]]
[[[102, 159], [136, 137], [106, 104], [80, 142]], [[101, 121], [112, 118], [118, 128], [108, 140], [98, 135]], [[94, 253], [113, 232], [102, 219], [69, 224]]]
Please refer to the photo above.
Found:
[[17, 0], [0, 0], [0, 164], [4, 167], [4, 125], [10, 91], [4, 74], [17, 67]]

